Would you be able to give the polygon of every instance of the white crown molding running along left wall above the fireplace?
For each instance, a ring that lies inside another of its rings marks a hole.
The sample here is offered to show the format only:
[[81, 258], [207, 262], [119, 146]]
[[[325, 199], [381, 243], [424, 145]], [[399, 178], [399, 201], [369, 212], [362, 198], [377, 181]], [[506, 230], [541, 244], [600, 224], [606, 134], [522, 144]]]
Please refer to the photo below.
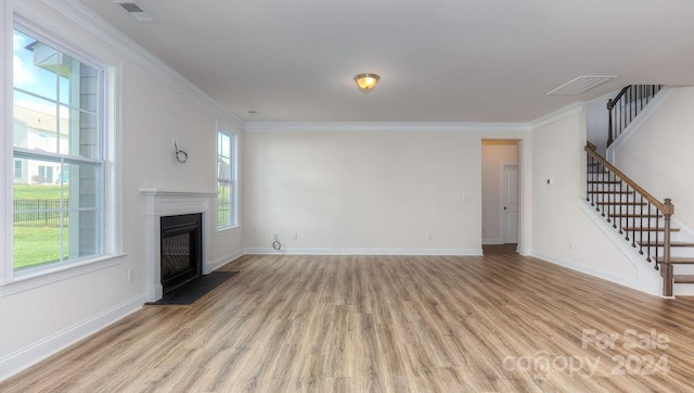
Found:
[[[177, 71], [168, 66], [162, 60], [150, 53], [146, 49], [132, 41], [120, 30], [110, 25], [106, 21], [91, 12], [77, 0], [37, 0], [47, 10], [52, 11], [55, 15], [72, 24], [87, 35], [97, 37], [103, 41], [108, 48], [123, 54], [126, 59], [133, 62], [138, 66], [146, 69], [152, 75], [159, 77], [162, 80], [179, 90], [183, 94], [190, 97], [195, 102], [207, 107], [216, 116], [220, 117], [226, 124], [243, 129], [243, 121], [228, 109], [219, 104], [211, 97], [207, 96], [203, 90], [185, 79]], [[22, 1], [15, 0], [13, 9], [25, 11], [26, 5]], [[30, 15], [26, 15], [30, 16]]]

